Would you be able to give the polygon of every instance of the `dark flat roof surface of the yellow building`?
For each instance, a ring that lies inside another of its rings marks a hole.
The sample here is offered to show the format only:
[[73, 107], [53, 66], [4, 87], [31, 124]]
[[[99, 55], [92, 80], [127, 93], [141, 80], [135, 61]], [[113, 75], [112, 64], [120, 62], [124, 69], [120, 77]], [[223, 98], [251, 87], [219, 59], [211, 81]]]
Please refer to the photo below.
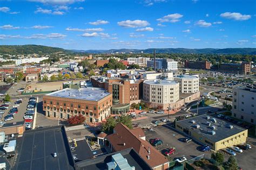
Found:
[[[206, 117], [210, 117], [210, 119], [207, 119]], [[212, 119], [216, 120], [216, 123], [213, 122]], [[195, 123], [192, 123], [191, 121], [195, 121]], [[206, 122], [210, 122], [211, 125], [208, 126]], [[217, 142], [219, 140], [223, 140], [225, 138], [228, 138], [230, 136], [233, 136], [234, 134], [237, 134], [239, 132], [245, 131], [246, 129], [241, 128], [237, 125], [228, 123], [226, 121], [223, 121], [219, 118], [212, 117], [210, 115], [200, 115], [188, 119], [184, 119], [182, 121], [177, 121], [177, 124], [181, 125], [184, 128], [189, 129], [190, 131], [194, 131], [196, 133], [199, 133], [200, 135], [204, 136], [207, 139], [210, 139], [211, 141]], [[200, 125], [200, 128], [193, 128], [192, 125]], [[233, 128], [228, 128], [229, 125], [232, 125]], [[212, 130], [210, 127], [215, 126], [215, 129]], [[215, 134], [210, 134], [211, 131], [215, 131]]]

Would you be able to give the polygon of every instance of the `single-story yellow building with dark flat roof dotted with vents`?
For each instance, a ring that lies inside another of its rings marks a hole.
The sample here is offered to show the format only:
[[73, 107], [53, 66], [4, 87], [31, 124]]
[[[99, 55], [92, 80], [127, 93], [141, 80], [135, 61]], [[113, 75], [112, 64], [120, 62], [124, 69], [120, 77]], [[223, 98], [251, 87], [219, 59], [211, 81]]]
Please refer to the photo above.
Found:
[[247, 129], [209, 115], [177, 121], [176, 129], [215, 151], [245, 143], [248, 134]]

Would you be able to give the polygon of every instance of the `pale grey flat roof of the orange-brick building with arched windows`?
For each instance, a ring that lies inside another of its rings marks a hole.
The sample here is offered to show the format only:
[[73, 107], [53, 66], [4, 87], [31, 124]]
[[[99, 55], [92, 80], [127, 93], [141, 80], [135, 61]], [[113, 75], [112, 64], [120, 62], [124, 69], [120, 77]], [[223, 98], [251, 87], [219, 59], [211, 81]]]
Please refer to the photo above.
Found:
[[99, 101], [108, 95], [110, 95], [110, 93], [106, 92], [105, 89], [85, 87], [80, 89], [65, 88], [65, 89], [47, 94], [45, 96], [73, 98], [77, 100], [86, 100], [86, 101]]

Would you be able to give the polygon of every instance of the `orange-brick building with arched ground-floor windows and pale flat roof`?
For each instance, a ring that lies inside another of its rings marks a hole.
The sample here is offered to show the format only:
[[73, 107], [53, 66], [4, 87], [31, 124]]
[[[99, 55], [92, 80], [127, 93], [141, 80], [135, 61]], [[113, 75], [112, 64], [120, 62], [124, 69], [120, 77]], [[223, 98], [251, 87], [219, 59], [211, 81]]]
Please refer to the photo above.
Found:
[[110, 116], [112, 94], [101, 88], [65, 88], [44, 95], [45, 116], [68, 119], [82, 114], [86, 122], [102, 122]]

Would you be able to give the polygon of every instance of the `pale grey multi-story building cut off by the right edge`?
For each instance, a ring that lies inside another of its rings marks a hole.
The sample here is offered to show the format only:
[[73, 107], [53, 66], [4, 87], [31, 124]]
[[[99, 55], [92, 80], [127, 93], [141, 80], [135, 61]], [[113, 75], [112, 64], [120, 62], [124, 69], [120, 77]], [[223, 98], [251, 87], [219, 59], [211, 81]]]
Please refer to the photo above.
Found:
[[256, 125], [256, 87], [233, 88], [232, 116]]

